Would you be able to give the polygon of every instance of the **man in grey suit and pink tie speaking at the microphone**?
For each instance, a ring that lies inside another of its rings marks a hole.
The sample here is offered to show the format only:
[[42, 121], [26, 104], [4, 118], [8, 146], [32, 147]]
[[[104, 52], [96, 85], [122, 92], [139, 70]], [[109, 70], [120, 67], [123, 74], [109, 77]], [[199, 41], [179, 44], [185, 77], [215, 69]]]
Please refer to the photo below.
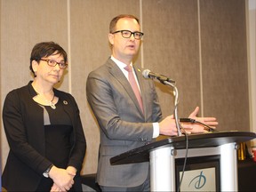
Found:
[[[162, 117], [153, 81], [141, 76], [132, 65], [142, 36], [136, 17], [119, 15], [114, 18], [108, 34], [112, 55], [87, 79], [87, 100], [100, 125], [97, 181], [102, 191], [149, 191], [148, 162], [111, 165], [109, 159], [154, 141], [159, 134], [177, 135], [173, 116]], [[132, 68], [137, 92], [139, 89], [138, 98], [138, 93], [133, 92], [129, 83], [132, 80], [127, 66]], [[197, 112], [198, 108], [189, 117], [197, 118]], [[217, 124], [213, 117], [200, 120], [210, 125]], [[183, 127], [188, 132], [204, 132], [204, 127], [199, 125], [196, 131], [191, 124]]]

